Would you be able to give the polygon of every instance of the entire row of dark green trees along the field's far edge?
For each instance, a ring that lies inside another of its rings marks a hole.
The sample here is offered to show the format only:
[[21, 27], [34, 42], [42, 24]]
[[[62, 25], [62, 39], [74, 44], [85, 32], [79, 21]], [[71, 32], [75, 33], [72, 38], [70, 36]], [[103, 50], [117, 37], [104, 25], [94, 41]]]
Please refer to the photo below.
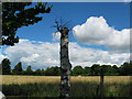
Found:
[[[46, 69], [35, 69], [33, 70], [31, 66], [24, 70], [22, 68], [22, 63], [19, 62], [13, 69], [11, 69], [11, 62], [4, 58], [1, 62], [2, 75], [35, 75], [35, 76], [59, 76], [61, 67], [47, 67]], [[72, 76], [99, 76], [103, 74], [105, 76], [131, 76], [132, 75], [132, 62], [125, 62], [121, 66], [117, 65], [100, 65], [94, 64], [91, 67], [75, 66], [72, 69]]]

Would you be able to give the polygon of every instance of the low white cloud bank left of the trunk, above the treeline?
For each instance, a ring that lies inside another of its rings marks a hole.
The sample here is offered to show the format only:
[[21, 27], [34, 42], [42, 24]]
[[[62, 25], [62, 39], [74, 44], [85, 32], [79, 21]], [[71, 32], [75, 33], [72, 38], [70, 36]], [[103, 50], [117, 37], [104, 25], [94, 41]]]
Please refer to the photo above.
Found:
[[[12, 67], [22, 62], [24, 68], [28, 65], [34, 68], [46, 68], [52, 65], [58, 65], [58, 47], [54, 43], [35, 42], [29, 40], [20, 40], [15, 46], [10, 46], [3, 51], [11, 61]], [[52, 64], [51, 64], [52, 63]]]

